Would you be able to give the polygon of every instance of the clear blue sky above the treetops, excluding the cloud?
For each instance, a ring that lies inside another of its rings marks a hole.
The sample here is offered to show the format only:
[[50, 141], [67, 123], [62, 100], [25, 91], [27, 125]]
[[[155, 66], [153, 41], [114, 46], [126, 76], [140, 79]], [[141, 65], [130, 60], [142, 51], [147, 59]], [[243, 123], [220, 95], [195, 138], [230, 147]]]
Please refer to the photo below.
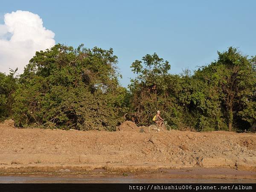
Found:
[[131, 63], [154, 52], [171, 73], [209, 64], [230, 46], [256, 55], [255, 0], [9, 0], [0, 4], [0, 23], [17, 10], [38, 14], [56, 43], [112, 47], [124, 86], [134, 77]]

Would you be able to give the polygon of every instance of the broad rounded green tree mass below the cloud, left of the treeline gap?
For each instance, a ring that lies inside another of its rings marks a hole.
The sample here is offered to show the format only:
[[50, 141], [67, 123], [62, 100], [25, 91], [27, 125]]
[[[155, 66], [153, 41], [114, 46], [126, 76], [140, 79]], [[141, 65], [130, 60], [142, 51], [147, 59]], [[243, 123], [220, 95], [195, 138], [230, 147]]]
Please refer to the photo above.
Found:
[[113, 49], [57, 44], [36, 52], [15, 92], [16, 124], [115, 130], [127, 104], [116, 64]]

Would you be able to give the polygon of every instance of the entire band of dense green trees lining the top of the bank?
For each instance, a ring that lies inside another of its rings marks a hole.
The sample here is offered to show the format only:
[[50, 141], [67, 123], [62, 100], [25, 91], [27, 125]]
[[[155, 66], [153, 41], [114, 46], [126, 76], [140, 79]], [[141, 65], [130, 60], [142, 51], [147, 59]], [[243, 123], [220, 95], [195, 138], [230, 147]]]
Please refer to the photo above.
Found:
[[36, 52], [15, 77], [0, 73], [0, 120], [19, 127], [105, 129], [126, 119], [149, 125], [157, 110], [174, 129], [242, 131], [256, 124], [256, 57], [230, 47], [193, 74], [169, 73], [156, 53], [131, 64], [137, 74], [120, 86], [117, 57], [98, 47], [57, 44]]

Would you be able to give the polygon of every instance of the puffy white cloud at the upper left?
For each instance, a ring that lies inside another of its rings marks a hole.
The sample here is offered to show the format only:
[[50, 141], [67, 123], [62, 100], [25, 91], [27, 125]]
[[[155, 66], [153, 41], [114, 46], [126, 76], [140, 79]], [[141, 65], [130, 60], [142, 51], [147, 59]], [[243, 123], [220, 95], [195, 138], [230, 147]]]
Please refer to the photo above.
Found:
[[0, 25], [0, 72], [9, 74], [9, 68], [18, 73], [23, 69], [36, 51], [55, 45], [54, 32], [45, 29], [43, 20], [27, 11], [16, 11], [4, 15]]

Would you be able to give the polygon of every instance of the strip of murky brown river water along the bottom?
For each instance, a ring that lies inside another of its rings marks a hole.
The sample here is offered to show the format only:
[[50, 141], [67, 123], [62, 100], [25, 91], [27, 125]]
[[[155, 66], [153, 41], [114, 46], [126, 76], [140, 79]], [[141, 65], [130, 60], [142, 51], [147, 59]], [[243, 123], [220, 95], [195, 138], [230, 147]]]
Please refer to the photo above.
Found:
[[163, 169], [155, 173], [0, 175], [0, 183], [256, 183], [256, 172], [236, 169]]

